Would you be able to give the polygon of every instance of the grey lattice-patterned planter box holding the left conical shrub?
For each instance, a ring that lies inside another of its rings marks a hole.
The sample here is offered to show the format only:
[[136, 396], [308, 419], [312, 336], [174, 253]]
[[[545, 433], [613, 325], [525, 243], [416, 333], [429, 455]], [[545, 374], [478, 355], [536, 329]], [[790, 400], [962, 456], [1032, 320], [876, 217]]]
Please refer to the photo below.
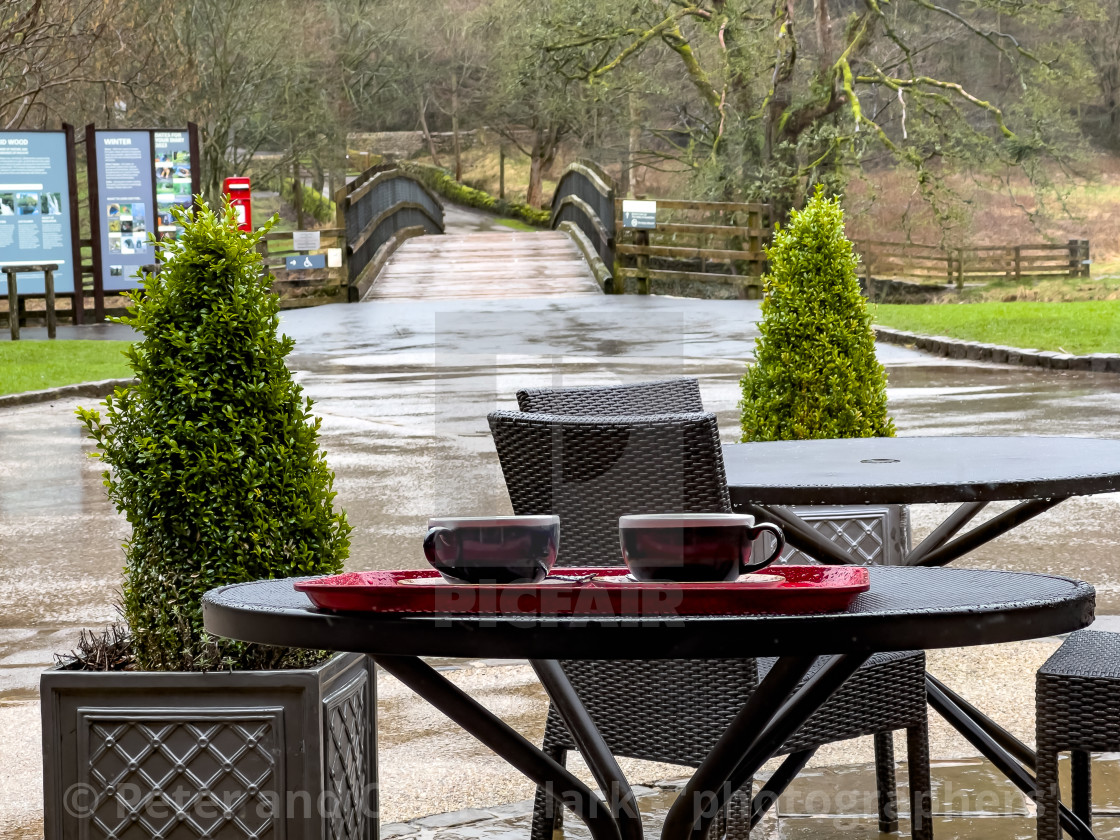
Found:
[[41, 679], [46, 840], [376, 840], [376, 681], [301, 671]]

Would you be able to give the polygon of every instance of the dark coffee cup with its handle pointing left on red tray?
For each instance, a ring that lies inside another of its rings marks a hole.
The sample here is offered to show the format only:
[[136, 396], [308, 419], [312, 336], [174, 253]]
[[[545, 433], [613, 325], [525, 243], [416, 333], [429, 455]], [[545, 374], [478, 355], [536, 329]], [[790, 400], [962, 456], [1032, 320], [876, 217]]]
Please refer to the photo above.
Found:
[[559, 516], [438, 516], [428, 520], [423, 553], [452, 584], [535, 584], [559, 544]]

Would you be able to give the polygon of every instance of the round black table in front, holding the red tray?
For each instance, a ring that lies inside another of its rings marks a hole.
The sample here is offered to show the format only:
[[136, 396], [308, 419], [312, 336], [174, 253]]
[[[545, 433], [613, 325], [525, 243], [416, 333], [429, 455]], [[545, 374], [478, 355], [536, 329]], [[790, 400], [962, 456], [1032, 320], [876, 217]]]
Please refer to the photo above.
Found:
[[[730, 792], [880, 651], [993, 644], [1067, 633], [1093, 620], [1093, 588], [1067, 578], [971, 569], [876, 567], [843, 612], [818, 615], [588, 618], [332, 614], [292, 580], [206, 594], [206, 629], [270, 645], [366, 653], [562, 805], [595, 840], [641, 840], [636, 801], [557, 660], [778, 656], [670, 809], [663, 840], [701, 840]], [[420, 656], [528, 659], [606, 801]], [[804, 681], [818, 659], [818, 670]], [[913, 819], [930, 812], [913, 803]]]

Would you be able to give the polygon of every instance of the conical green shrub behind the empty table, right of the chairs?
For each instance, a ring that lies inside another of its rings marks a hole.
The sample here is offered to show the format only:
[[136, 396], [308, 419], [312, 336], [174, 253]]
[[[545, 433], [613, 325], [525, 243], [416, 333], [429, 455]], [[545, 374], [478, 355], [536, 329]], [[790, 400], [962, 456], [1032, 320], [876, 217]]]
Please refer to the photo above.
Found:
[[840, 202], [818, 188], [766, 255], [755, 364], [741, 381], [743, 440], [893, 437]]

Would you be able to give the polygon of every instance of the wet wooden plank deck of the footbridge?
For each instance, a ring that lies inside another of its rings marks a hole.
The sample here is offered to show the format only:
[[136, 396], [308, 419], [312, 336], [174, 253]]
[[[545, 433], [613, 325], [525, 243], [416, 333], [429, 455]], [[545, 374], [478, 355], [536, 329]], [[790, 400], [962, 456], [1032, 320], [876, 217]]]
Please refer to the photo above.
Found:
[[364, 300], [467, 300], [600, 295], [571, 239], [557, 231], [417, 236], [389, 259]]

